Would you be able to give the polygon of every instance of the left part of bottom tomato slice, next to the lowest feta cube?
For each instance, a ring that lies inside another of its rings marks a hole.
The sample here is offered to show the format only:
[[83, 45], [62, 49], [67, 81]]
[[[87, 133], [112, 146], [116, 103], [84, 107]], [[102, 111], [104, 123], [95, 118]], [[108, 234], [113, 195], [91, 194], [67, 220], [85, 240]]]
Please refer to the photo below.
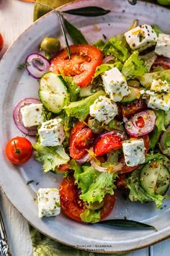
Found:
[[68, 174], [66, 178], [63, 178], [59, 192], [63, 213], [73, 220], [81, 221], [80, 216], [86, 210], [86, 206], [79, 198], [79, 189], [75, 184], [73, 174]]

